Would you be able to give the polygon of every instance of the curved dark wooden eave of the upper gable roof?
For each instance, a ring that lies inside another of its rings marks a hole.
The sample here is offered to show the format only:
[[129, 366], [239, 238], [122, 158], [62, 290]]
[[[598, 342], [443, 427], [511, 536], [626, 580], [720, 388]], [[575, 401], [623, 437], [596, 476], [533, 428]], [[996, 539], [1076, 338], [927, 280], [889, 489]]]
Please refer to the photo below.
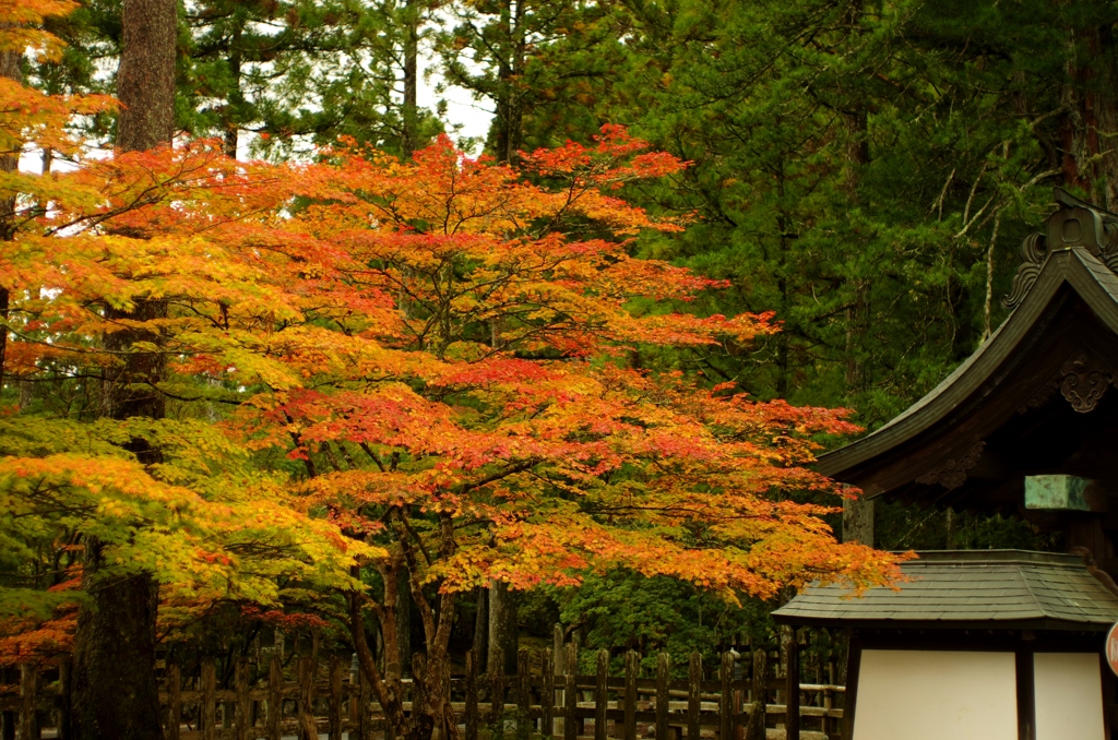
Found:
[[822, 455], [817, 467], [870, 497], [908, 486], [908, 500], [951, 504], [942, 486], [915, 481], [968, 454], [980, 458], [983, 440], [1018, 424], [1022, 409], [1077, 351], [1099, 355], [1118, 377], [1118, 276], [1073, 246], [1046, 257], [1008, 319], [939, 386], [874, 433]]

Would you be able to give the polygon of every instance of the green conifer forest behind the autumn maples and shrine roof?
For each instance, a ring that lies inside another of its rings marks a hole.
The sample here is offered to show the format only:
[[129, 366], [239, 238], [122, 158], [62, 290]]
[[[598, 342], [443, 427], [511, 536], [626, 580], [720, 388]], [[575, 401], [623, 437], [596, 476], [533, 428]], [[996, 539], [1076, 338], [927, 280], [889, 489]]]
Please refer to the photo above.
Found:
[[[23, 80], [50, 95], [116, 94], [121, 18], [113, 0], [48, 16], [65, 47], [21, 57]], [[854, 409], [872, 429], [1004, 319], [1017, 245], [1053, 186], [1118, 210], [1116, 21], [1101, 0], [197, 0], [178, 12], [174, 129], [216, 137], [234, 159], [278, 163], [344, 136], [406, 161], [447, 133], [445, 107], [418, 104], [425, 75], [493, 111], [484, 141], [461, 143], [494, 162], [531, 164], [524, 152], [625, 126], [688, 163], [624, 183], [653, 220], [686, 222], [645, 228], [625, 252], [727, 281], [679, 303], [685, 312], [774, 311], [780, 326], [643, 344], [627, 367]], [[117, 139], [114, 108], [84, 113], [73, 135]], [[64, 146], [34, 152], [45, 172], [67, 169]], [[58, 389], [8, 382], [4, 402], [77, 412], [80, 393]], [[893, 507], [877, 512], [875, 544], [1058, 547], [1020, 523]], [[504, 618], [513, 642], [559, 623], [590, 647], [645, 654], [766, 639], [780, 598], [735, 604], [626, 569], [578, 588], [476, 591], [456, 644], [484, 648], [496, 633], [482, 625]], [[429, 625], [404, 586], [400, 596], [408, 655]], [[207, 639], [230, 654], [259, 629], [237, 611], [207, 618]]]

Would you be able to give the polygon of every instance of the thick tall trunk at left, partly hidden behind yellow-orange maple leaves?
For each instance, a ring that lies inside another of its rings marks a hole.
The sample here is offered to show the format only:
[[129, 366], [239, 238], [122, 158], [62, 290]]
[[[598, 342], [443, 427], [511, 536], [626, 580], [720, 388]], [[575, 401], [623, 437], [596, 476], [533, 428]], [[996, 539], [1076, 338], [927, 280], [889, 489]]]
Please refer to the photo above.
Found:
[[[125, 0], [117, 97], [123, 104], [116, 143], [123, 151], [170, 144], [174, 127], [176, 0]], [[167, 315], [165, 304], [139, 301], [127, 313], [108, 317], [151, 321]], [[157, 341], [150, 331], [127, 330], [105, 338], [107, 349], [127, 350]], [[163, 377], [158, 353], [126, 354], [112, 374], [108, 412], [117, 419], [162, 418], [163, 397], [154, 386]], [[129, 448], [144, 464], [159, 462], [145, 439]], [[159, 585], [149, 573], [107, 569], [102, 545], [86, 540], [83, 590], [89, 597], [78, 611], [74, 647], [74, 734], [78, 740], [161, 740], [155, 682], [155, 617]]]

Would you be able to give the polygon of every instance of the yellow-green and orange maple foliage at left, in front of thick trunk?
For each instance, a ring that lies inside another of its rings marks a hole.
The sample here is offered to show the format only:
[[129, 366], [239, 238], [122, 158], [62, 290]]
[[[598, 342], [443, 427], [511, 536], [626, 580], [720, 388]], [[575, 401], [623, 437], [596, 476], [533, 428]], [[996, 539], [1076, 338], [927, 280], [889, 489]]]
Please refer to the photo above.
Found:
[[[0, 49], [55, 53], [42, 17], [74, 7], [0, 2]], [[284, 475], [256, 465], [252, 450], [214, 426], [211, 407], [173, 400], [173, 388], [205, 379], [123, 371], [138, 359], [179, 357], [176, 340], [191, 332], [183, 307], [216, 284], [210, 263], [243, 267], [199, 235], [258, 207], [256, 187], [207, 146], [85, 161], [68, 125], [115, 106], [112, 99], [46, 96], [18, 76], [0, 78], [0, 145], [11, 161], [40, 146], [78, 163], [47, 177], [15, 165], [0, 172], [8, 340], [0, 364], [9, 387], [31, 390], [0, 419], [3, 660], [74, 649], [76, 607], [133, 580], [153, 580], [164, 622], [217, 601], [275, 604], [285, 585], [351, 585], [347, 569], [364, 545], [297, 505]], [[222, 188], [226, 205], [239, 210], [210, 209], [208, 193]], [[241, 297], [266, 290], [253, 275], [234, 284], [248, 291]], [[144, 316], [135, 311], [142, 304], [159, 310]], [[171, 412], [116, 412], [121, 399], [151, 397], [172, 399]]]

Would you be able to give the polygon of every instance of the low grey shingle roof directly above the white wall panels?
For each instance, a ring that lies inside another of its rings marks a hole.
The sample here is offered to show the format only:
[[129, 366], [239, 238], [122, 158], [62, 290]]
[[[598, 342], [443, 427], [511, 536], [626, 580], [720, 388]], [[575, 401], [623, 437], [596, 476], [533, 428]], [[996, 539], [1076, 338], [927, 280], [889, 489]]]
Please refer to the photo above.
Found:
[[851, 596], [839, 586], [808, 587], [773, 616], [818, 626], [984, 627], [1106, 630], [1118, 596], [1074, 556], [1024, 550], [920, 553], [901, 566], [900, 590]]

